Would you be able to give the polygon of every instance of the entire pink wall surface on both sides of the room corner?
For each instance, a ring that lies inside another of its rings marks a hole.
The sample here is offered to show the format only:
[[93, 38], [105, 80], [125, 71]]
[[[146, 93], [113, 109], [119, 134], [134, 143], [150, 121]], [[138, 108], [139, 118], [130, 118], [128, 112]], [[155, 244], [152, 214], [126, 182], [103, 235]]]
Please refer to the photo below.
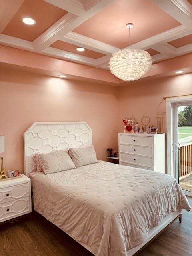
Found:
[[[16, 69], [0, 69], [0, 134], [5, 135], [4, 168], [24, 171], [23, 133], [33, 122], [86, 121], [92, 128], [99, 159], [118, 147], [122, 120], [166, 112], [163, 96], [192, 93], [192, 74], [139, 80], [114, 88], [65, 80]], [[164, 126], [166, 131], [166, 126]]]

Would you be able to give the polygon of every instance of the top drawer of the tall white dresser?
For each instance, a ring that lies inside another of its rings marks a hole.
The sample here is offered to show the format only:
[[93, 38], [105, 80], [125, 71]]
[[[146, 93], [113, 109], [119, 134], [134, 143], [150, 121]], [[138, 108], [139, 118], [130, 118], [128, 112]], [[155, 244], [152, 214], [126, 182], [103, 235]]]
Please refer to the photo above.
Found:
[[152, 147], [152, 138], [147, 136], [121, 135], [120, 144], [131, 144]]

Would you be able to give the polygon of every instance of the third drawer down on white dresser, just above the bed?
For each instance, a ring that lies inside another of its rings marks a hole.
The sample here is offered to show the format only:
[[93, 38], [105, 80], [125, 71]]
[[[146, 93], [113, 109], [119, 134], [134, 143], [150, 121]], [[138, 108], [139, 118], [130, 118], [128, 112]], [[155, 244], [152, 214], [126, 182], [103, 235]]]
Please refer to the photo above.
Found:
[[152, 168], [152, 158], [120, 153], [120, 162]]

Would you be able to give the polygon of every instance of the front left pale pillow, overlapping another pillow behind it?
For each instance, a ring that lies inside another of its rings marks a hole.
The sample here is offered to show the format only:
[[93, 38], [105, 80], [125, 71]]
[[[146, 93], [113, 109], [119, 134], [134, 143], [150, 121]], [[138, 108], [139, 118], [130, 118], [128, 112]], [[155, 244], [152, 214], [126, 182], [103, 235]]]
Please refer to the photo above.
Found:
[[66, 171], [76, 168], [67, 150], [36, 155], [45, 174]]

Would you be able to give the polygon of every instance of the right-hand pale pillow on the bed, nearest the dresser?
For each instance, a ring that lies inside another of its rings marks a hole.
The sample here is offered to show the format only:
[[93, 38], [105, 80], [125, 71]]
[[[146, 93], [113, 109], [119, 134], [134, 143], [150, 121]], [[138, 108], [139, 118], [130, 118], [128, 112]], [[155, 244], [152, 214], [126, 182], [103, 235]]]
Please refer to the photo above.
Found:
[[94, 146], [69, 148], [69, 154], [76, 167], [97, 163]]

